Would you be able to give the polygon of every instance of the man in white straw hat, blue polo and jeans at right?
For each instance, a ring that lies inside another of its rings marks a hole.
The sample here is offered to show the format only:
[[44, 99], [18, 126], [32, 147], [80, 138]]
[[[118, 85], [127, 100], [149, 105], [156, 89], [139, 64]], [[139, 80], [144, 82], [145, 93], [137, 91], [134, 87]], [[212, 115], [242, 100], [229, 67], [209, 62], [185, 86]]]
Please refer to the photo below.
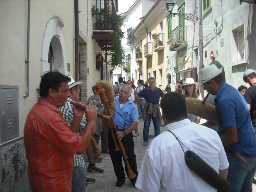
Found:
[[[204, 90], [216, 95], [218, 134], [230, 164], [227, 177], [230, 192], [252, 191], [256, 170], [256, 136], [244, 98], [236, 88], [224, 81], [221, 73], [222, 68], [218, 69], [216, 65], [203, 68], [199, 71], [201, 85]], [[249, 163], [248, 166], [241, 157]]]

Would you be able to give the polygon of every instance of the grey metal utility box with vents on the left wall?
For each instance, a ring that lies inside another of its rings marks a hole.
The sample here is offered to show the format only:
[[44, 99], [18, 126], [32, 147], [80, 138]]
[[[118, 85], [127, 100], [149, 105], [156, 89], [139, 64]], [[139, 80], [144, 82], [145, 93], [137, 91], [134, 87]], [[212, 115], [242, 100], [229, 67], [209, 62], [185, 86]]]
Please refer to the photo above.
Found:
[[0, 85], [1, 143], [19, 137], [18, 86]]

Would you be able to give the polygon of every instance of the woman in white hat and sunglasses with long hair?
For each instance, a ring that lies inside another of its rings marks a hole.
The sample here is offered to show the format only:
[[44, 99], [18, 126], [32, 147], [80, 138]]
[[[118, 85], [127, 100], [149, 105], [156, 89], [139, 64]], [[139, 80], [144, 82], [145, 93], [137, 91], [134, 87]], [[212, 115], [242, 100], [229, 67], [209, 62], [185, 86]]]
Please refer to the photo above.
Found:
[[[203, 100], [203, 98], [199, 96], [198, 93], [196, 92], [196, 87], [198, 86], [198, 83], [195, 83], [193, 78], [186, 78], [184, 86], [185, 86], [185, 98], [195, 98], [195, 99]], [[199, 124], [201, 120], [200, 117], [190, 113], [188, 114], [188, 118], [191, 122], [195, 122], [197, 124]]]

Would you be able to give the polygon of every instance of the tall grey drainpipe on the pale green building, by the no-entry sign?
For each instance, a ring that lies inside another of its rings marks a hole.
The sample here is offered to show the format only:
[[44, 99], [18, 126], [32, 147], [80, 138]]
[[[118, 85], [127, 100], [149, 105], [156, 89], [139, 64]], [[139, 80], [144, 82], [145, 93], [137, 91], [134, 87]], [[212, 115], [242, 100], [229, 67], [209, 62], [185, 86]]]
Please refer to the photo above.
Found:
[[[203, 68], [203, 20], [202, 20], [202, 1], [199, 2], [199, 70]], [[199, 77], [200, 78], [200, 77]], [[202, 93], [202, 97], [204, 97], [204, 88], [200, 86], [200, 93]]]

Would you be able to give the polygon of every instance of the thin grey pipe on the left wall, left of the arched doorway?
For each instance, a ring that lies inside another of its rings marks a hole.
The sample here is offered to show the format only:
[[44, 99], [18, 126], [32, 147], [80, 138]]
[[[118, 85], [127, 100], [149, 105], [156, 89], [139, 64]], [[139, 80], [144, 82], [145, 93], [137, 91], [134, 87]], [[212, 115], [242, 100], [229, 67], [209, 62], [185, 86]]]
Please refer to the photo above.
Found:
[[23, 94], [23, 97], [29, 96], [29, 38], [30, 38], [30, 0], [28, 0], [28, 26], [27, 26], [27, 92]]

